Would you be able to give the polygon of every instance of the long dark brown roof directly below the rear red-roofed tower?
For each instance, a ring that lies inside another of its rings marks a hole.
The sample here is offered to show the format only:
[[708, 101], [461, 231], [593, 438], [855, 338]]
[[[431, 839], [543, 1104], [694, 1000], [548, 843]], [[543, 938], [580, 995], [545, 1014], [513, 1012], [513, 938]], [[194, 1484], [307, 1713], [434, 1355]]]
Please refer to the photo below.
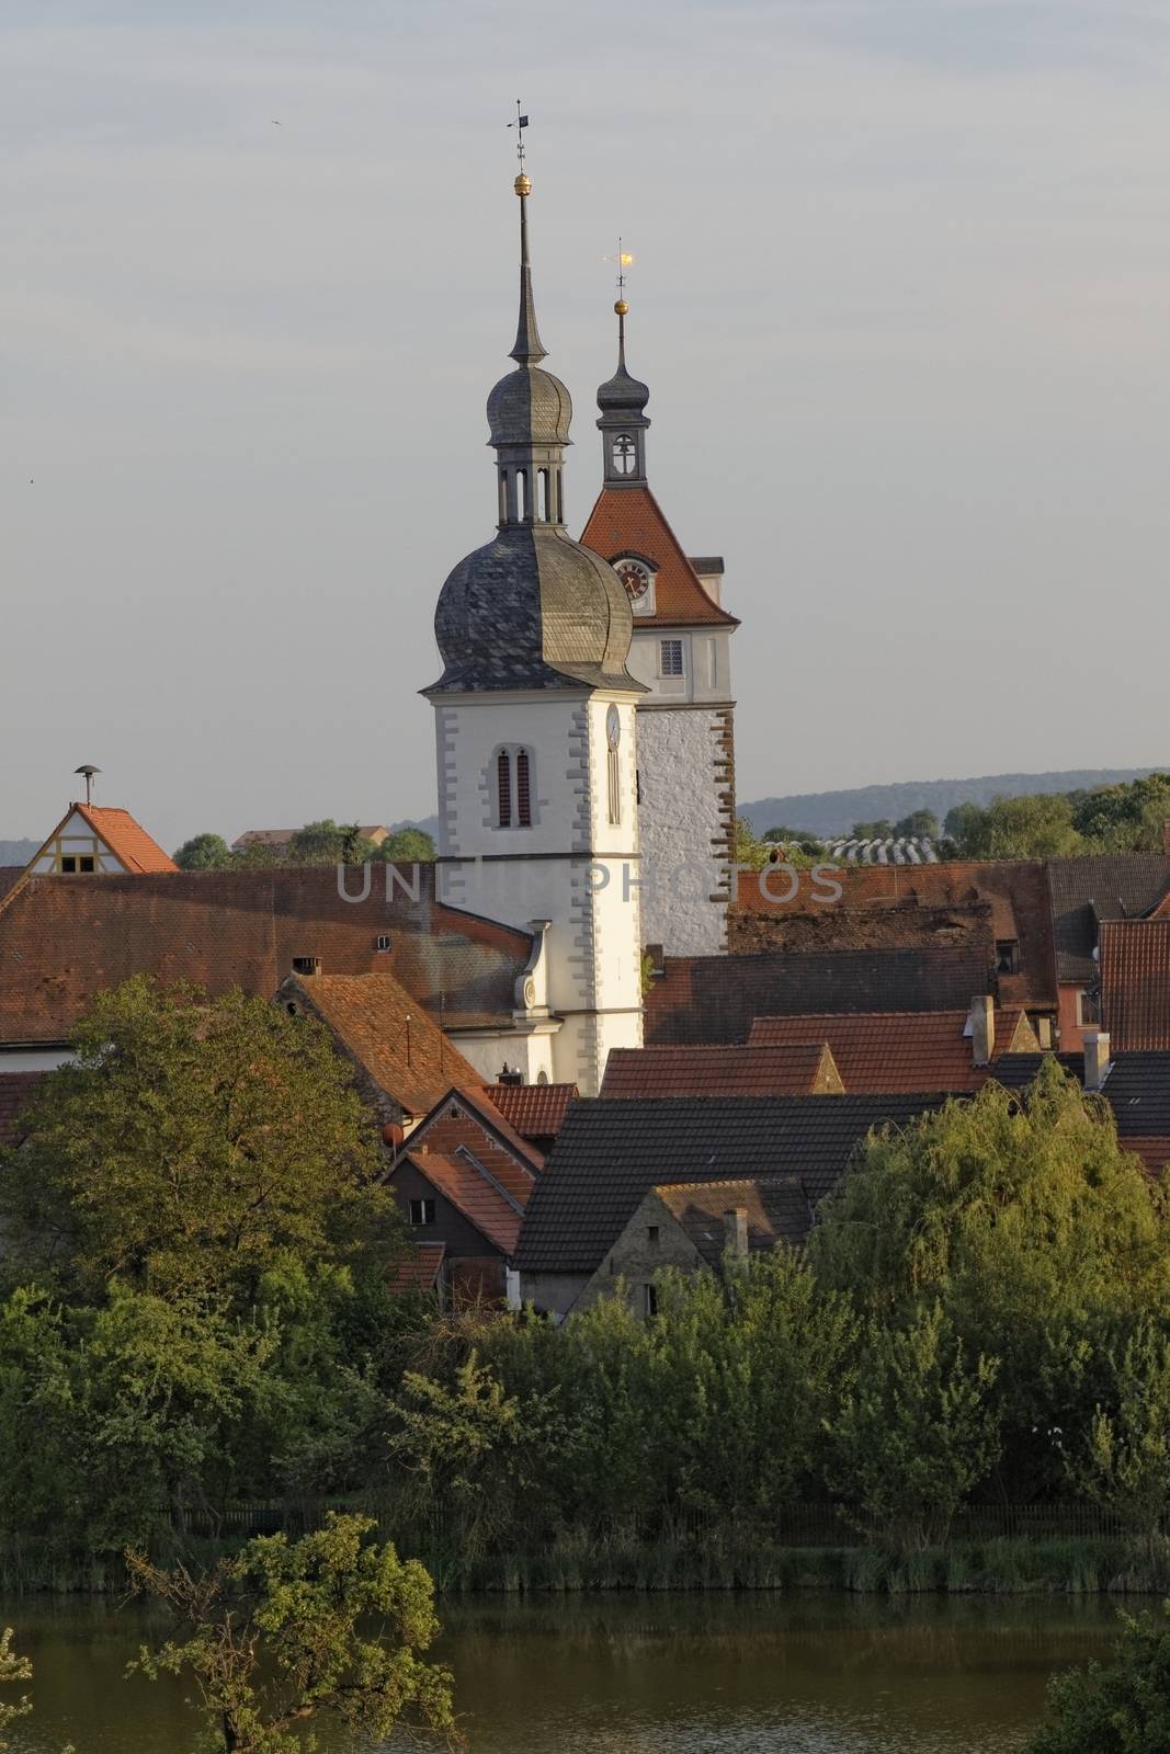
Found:
[[993, 989], [986, 954], [970, 949], [668, 956], [646, 1000], [646, 1040], [746, 1042], [756, 1017], [798, 1012], [967, 1010]]

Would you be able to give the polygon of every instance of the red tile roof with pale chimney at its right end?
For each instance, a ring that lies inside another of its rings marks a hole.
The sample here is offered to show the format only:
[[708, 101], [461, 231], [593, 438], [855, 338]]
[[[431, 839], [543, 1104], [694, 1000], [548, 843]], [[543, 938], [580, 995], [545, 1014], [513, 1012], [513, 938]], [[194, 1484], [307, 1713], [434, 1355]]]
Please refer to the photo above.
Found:
[[[756, 1047], [828, 1042], [851, 1096], [893, 1096], [912, 1091], [977, 1091], [988, 1068], [972, 1065], [967, 1010], [888, 1010], [805, 1017], [756, 1017]], [[995, 1052], [1038, 1052], [1023, 1010], [995, 1014]]]

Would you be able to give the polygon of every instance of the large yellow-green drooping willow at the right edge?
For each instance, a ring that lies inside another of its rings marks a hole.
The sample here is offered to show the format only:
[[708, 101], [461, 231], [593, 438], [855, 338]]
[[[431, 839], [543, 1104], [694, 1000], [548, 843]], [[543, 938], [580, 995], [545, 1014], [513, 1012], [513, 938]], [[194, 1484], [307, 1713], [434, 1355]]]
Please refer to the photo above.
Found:
[[1002, 1359], [1000, 1486], [1067, 1489], [1110, 1349], [1170, 1308], [1166, 1201], [1110, 1110], [1047, 1061], [1023, 1107], [988, 1084], [865, 1142], [819, 1207], [812, 1266], [882, 1324], [940, 1303], [968, 1359]]

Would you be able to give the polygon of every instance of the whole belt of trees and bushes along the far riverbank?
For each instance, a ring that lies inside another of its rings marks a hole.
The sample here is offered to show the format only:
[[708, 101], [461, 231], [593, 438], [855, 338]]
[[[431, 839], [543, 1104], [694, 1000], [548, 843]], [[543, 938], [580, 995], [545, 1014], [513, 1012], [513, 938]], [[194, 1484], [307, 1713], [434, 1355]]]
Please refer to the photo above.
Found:
[[135, 980], [79, 1045], [0, 1165], [9, 1587], [326, 1501], [446, 1587], [1161, 1587], [1166, 1205], [1054, 1065], [872, 1137], [803, 1254], [554, 1326], [389, 1293], [310, 1021]]

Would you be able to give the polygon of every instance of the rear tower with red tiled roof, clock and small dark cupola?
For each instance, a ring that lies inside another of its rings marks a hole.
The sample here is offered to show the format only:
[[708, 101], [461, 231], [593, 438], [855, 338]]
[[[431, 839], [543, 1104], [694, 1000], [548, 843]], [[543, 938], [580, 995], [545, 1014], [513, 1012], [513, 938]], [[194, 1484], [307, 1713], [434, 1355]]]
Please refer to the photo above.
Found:
[[735, 702], [723, 561], [688, 558], [646, 472], [649, 389], [626, 370], [624, 296], [617, 370], [596, 393], [602, 493], [581, 540], [607, 560], [633, 612], [639, 702], [642, 938], [668, 956], [726, 949], [735, 881]]

